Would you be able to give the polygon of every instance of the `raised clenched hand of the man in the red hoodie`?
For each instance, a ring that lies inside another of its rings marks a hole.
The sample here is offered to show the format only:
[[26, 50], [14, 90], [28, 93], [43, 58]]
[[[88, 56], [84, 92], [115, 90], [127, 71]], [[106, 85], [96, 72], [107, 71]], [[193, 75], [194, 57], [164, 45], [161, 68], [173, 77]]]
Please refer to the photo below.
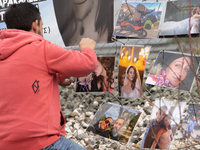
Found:
[[79, 50], [82, 51], [83, 48], [90, 48], [90, 49], [95, 49], [96, 47], [96, 42], [92, 39], [89, 38], [82, 38], [80, 43], [79, 43]]

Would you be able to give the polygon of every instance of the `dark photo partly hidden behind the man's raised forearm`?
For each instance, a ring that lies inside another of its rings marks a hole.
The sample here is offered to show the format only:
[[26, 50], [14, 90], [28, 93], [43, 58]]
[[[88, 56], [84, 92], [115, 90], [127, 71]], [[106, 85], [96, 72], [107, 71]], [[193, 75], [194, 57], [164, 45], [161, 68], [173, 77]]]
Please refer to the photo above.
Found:
[[97, 68], [77, 79], [76, 92], [114, 92], [115, 57], [98, 57]]

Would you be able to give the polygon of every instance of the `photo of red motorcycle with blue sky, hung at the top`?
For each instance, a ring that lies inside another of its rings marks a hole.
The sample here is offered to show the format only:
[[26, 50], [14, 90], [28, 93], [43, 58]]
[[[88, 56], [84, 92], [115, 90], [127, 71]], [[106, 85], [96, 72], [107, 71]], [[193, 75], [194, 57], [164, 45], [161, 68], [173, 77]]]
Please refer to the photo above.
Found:
[[157, 38], [162, 9], [163, 3], [123, 2], [113, 35]]

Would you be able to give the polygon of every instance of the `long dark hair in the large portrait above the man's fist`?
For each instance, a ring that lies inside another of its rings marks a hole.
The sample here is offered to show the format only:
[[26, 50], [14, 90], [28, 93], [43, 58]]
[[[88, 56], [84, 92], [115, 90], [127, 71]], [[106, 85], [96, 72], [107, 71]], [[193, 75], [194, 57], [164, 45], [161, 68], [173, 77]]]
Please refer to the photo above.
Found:
[[[103, 35], [106, 30], [108, 30], [107, 41], [111, 42], [111, 37], [113, 33], [113, 0], [90, 0], [91, 2], [98, 2], [97, 11], [95, 14], [95, 31], [98, 32], [99, 36]], [[82, 4], [82, 3], [81, 3]], [[53, 0], [55, 16], [58, 24], [58, 28], [62, 39], [66, 46], [71, 46], [71, 38], [75, 35], [78, 22], [84, 20], [87, 15], [90, 14], [92, 8], [89, 8], [88, 13], [83, 18], [76, 18], [79, 9], [74, 0]], [[111, 14], [111, 15], [110, 15]], [[78, 43], [77, 43], [78, 44]]]

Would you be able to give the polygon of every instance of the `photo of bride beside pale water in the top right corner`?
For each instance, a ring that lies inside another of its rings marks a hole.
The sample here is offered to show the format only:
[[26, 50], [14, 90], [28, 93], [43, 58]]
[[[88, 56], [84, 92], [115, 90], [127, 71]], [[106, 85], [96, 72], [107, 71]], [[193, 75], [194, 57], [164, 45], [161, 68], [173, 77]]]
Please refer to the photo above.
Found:
[[189, 31], [192, 36], [199, 35], [199, 8], [200, 1], [196, 0], [191, 0], [191, 11], [188, 0], [168, 1], [159, 37], [181, 37], [188, 35]]

